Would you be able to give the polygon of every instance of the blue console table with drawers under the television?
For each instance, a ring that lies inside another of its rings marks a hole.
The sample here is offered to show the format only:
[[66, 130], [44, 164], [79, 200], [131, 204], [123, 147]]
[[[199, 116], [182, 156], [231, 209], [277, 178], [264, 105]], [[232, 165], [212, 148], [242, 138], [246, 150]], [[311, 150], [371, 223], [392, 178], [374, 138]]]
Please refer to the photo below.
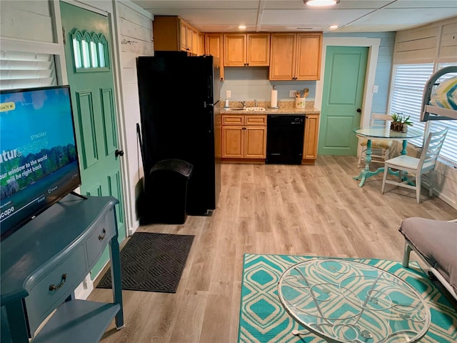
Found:
[[[98, 342], [114, 317], [124, 327], [116, 204], [69, 194], [1, 242], [2, 343]], [[114, 301], [74, 299], [106, 244]]]

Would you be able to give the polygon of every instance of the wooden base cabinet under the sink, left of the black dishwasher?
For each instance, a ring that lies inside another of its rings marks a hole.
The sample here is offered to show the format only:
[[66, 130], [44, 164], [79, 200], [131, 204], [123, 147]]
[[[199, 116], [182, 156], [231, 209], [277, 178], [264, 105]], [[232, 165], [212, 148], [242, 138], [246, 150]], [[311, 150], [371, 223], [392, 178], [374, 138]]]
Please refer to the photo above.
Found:
[[223, 159], [266, 158], [266, 115], [222, 116]]

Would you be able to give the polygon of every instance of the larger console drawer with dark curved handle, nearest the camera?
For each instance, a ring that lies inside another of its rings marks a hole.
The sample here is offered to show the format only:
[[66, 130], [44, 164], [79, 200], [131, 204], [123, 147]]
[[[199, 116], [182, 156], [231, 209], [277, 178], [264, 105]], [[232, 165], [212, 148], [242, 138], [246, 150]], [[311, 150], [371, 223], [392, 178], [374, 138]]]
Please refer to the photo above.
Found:
[[81, 244], [64, 262], [49, 270], [25, 298], [30, 332], [64, 302], [86, 275], [85, 247]]

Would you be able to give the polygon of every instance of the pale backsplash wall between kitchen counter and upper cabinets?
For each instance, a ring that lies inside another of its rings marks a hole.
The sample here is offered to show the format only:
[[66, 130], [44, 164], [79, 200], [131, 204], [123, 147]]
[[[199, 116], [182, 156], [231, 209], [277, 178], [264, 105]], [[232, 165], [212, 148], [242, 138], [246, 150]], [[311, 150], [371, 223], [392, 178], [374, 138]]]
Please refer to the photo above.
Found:
[[[271, 100], [271, 89], [276, 86], [278, 90], [279, 106], [295, 106], [295, 98], [288, 96], [289, 91], [300, 91], [308, 88], [309, 93], [306, 98], [308, 103], [314, 104], [316, 94], [316, 81], [270, 81], [268, 80], [268, 67], [249, 66], [249, 67], [226, 67], [224, 68], [225, 79], [221, 83], [221, 102], [226, 100], [226, 91], [231, 91], [229, 102], [254, 101], [260, 104]], [[223, 105], [224, 106], [224, 105]], [[259, 105], [261, 106], [261, 105]], [[267, 107], [268, 107], [267, 106]]]

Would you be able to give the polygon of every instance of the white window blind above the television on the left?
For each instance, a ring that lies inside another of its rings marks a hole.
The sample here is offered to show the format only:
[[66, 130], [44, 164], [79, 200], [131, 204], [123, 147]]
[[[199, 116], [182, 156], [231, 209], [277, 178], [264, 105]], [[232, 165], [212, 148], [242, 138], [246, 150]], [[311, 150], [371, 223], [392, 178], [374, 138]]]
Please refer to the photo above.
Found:
[[55, 86], [54, 55], [0, 52], [0, 89]]

